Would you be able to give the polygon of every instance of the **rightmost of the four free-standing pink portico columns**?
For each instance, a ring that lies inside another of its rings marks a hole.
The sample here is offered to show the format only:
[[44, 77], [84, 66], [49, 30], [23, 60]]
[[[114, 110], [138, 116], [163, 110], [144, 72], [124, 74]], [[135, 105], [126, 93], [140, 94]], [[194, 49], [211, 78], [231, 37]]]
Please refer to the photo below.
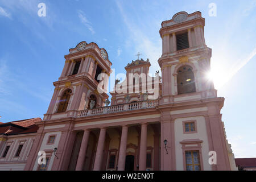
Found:
[[141, 125], [141, 146], [139, 150], [139, 171], [146, 170], [147, 162], [147, 123]]

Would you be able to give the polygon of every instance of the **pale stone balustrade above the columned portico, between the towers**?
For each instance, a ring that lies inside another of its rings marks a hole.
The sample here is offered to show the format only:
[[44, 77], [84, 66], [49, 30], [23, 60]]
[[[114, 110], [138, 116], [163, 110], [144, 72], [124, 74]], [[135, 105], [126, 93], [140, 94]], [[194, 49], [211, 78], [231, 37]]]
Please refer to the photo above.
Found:
[[150, 109], [158, 106], [158, 100], [147, 100], [142, 102], [133, 102], [129, 104], [121, 104], [114, 106], [98, 107], [96, 109], [80, 110], [77, 117], [86, 117], [91, 115], [118, 113], [122, 111], [138, 110], [138, 109]]

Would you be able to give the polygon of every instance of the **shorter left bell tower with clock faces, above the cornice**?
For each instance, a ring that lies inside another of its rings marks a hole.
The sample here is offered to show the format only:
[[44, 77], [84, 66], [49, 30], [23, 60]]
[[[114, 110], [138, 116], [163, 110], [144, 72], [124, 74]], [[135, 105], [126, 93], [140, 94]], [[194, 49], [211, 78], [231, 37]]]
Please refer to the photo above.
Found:
[[[81, 42], [64, 57], [64, 68], [59, 80], [53, 82], [55, 90], [44, 120], [72, 117], [79, 110], [104, 106], [109, 97], [104, 91], [112, 63], [104, 48]], [[105, 84], [99, 85], [103, 80]]]

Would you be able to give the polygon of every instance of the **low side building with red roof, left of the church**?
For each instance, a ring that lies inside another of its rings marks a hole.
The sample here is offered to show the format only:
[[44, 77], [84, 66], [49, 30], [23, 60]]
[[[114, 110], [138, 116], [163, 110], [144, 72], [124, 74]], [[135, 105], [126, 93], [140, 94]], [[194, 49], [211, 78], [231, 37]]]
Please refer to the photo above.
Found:
[[41, 118], [0, 123], [0, 171], [22, 171], [36, 137]]

